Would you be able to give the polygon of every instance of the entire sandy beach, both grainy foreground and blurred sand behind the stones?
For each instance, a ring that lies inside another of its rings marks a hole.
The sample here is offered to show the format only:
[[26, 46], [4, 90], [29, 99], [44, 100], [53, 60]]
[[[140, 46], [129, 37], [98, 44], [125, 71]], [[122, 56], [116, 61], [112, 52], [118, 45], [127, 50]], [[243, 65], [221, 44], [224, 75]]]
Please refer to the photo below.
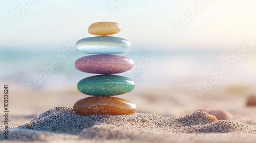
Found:
[[[136, 114], [91, 116], [74, 113], [72, 104], [81, 98], [76, 90], [67, 89], [65, 93], [56, 92], [54, 96], [53, 93], [44, 93], [42, 96], [40, 92], [34, 93], [35, 96], [22, 94], [22, 98], [28, 99], [22, 107], [18, 104], [20, 93], [12, 92], [8, 139], [2, 137], [1, 140], [254, 142], [256, 139], [256, 108], [246, 106], [246, 96], [215, 91], [216, 93], [210, 92], [199, 97], [189, 89], [172, 89], [172, 92], [166, 92], [167, 90], [169, 89], [159, 88], [159, 92], [156, 92], [143, 89], [123, 95], [123, 98], [137, 104]], [[226, 110], [231, 114], [231, 119], [212, 121], [212, 115], [197, 111], [214, 109]], [[4, 121], [1, 121], [1, 134], [4, 134]]]

